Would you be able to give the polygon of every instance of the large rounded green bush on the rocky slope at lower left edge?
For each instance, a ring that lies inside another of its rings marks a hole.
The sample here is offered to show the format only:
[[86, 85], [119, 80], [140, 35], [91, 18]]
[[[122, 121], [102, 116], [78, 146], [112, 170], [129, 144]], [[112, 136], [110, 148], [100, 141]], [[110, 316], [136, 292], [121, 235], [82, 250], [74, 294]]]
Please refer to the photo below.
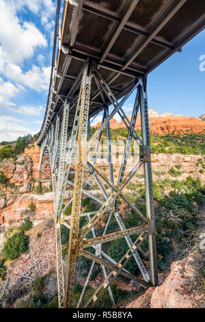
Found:
[[22, 232], [9, 237], [3, 247], [3, 256], [7, 260], [15, 260], [21, 253], [29, 250], [29, 237]]

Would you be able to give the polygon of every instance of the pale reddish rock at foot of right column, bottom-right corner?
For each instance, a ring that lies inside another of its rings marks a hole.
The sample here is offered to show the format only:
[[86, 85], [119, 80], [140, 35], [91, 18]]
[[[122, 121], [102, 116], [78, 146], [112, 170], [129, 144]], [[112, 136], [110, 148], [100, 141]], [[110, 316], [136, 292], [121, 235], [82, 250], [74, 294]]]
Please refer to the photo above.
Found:
[[126, 308], [202, 308], [205, 295], [197, 290], [195, 256], [190, 254], [173, 262], [165, 282], [156, 288], [148, 288]]

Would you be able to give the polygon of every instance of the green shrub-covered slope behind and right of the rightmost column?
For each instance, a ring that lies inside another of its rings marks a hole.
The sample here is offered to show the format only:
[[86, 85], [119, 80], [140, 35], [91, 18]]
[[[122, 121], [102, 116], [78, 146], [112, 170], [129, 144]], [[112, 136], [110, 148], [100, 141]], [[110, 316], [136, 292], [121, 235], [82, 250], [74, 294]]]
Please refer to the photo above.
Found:
[[[178, 167], [179, 168], [179, 167]], [[175, 174], [173, 168], [173, 173]], [[130, 188], [137, 191], [136, 196], [131, 196], [133, 203], [139, 210], [146, 214], [145, 203], [145, 190], [140, 186], [133, 186]], [[169, 195], [165, 194], [165, 190], [170, 191]], [[174, 245], [180, 245], [180, 251], [187, 248], [187, 245], [194, 243], [191, 238], [197, 225], [197, 208], [202, 206], [205, 200], [205, 188], [202, 186], [200, 179], [194, 179], [189, 176], [186, 180], [170, 180], [170, 179], [158, 179], [157, 182], [153, 182], [153, 195], [155, 204], [155, 216], [156, 216], [156, 243], [158, 252], [158, 264], [159, 270], [163, 271], [167, 269], [171, 262], [174, 260], [174, 253], [176, 249]], [[129, 195], [126, 195], [130, 199]], [[131, 214], [126, 216], [125, 225], [126, 228], [135, 227], [142, 223], [138, 214], [133, 212], [130, 208], [127, 208], [127, 213]], [[136, 235], [131, 236], [133, 240], [136, 239]], [[116, 262], [122, 258], [122, 255], [128, 249], [124, 238], [113, 240], [107, 248], [107, 253]], [[141, 245], [139, 253], [143, 260], [147, 260], [145, 253], [148, 251], [147, 241]], [[129, 266], [129, 267], [128, 267]], [[136, 265], [134, 260], [128, 262], [126, 269], [133, 274], [137, 274]]]

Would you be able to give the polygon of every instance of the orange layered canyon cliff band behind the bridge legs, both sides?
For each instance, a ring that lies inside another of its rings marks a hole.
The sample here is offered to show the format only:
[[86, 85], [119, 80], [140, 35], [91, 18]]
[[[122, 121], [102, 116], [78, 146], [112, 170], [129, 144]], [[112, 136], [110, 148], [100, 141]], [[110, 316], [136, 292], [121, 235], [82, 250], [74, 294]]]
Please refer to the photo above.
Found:
[[[53, 193], [46, 192], [38, 195], [33, 193], [33, 186], [38, 184], [38, 167], [40, 159], [39, 147], [31, 147], [25, 149], [25, 153], [20, 155], [16, 164], [13, 159], [5, 159], [1, 162], [0, 170], [10, 178], [10, 182], [18, 186], [18, 190], [6, 193], [0, 197], [0, 223], [7, 224], [9, 222], [21, 221], [26, 216], [31, 216], [34, 219], [52, 219], [53, 215]], [[183, 154], [165, 154], [160, 153], [152, 154], [152, 170], [153, 179], [157, 180], [159, 176], [172, 179], [172, 175], [168, 173], [169, 169], [173, 166], [180, 164], [180, 175], [176, 179], [186, 179], [191, 172], [192, 177], [195, 179], [200, 178], [202, 184], [205, 184], [205, 175], [200, 173], [200, 167], [197, 164], [198, 160], [204, 160], [204, 156], [186, 156]], [[22, 164], [23, 163], [23, 164]], [[114, 173], [115, 183], [118, 179], [120, 171], [120, 160]], [[129, 165], [133, 166], [133, 160]], [[108, 175], [108, 166], [105, 166], [105, 174]], [[133, 182], [143, 183], [143, 168], [138, 172], [141, 177], [133, 178]], [[36, 179], [36, 182], [31, 182], [31, 178]], [[48, 183], [46, 183], [48, 186]], [[72, 190], [66, 191], [64, 202], [72, 197]], [[33, 203], [36, 206], [35, 213], [29, 210], [29, 204]]]

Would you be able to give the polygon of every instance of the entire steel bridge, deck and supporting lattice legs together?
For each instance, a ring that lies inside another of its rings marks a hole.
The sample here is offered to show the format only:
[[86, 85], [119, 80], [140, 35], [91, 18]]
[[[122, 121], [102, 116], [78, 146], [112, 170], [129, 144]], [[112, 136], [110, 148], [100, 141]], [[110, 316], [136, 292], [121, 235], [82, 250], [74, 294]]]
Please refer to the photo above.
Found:
[[[134, 280], [142, 288], [158, 284], [147, 75], [204, 29], [204, 12], [204, 0], [66, 0], [64, 3], [57, 0], [51, 82], [36, 142], [41, 146], [39, 181], [53, 184], [59, 308], [73, 305], [79, 256], [90, 260], [90, 271], [77, 307], [96, 306], [105, 292], [115, 306], [111, 283], [118, 275]], [[124, 103], [132, 94], [135, 103], [132, 116], [128, 117]], [[138, 112], [141, 136], [135, 131]], [[94, 132], [92, 121], [99, 113], [102, 123]], [[128, 129], [117, 179], [110, 130], [115, 114]], [[98, 162], [102, 137], [107, 138], [103, 162], [109, 176], [102, 171], [102, 162]], [[135, 153], [137, 159], [130, 169], [128, 158], [133, 143], [139, 153]], [[126, 196], [125, 190], [141, 166], [146, 215]], [[90, 190], [94, 184], [98, 187], [97, 194]], [[65, 206], [68, 188], [72, 190], [72, 198]], [[90, 197], [98, 209], [83, 212], [83, 197]], [[118, 212], [120, 199], [139, 216], [137, 227], [126, 228]], [[69, 206], [72, 211], [68, 215]], [[83, 227], [82, 218], [87, 220]], [[105, 225], [99, 230], [102, 221]], [[110, 232], [113, 221], [118, 228], [115, 225]], [[61, 251], [61, 225], [70, 230], [66, 269]], [[107, 243], [117, 238], [126, 240], [127, 251], [115, 262], [107, 254]], [[137, 251], [145, 240], [148, 240], [149, 264], [141, 260]], [[131, 258], [139, 267], [139, 276], [126, 269]], [[85, 301], [94, 264], [100, 265], [104, 280]]]

